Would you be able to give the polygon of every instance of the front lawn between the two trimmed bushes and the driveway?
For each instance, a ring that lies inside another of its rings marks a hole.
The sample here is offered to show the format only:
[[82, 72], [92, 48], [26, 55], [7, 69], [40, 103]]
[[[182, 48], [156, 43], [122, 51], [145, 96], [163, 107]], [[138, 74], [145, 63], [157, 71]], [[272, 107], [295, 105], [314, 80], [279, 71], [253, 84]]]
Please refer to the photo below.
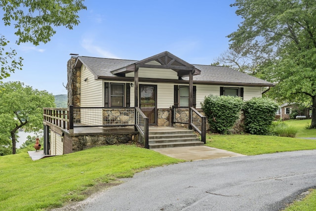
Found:
[[316, 140], [269, 135], [207, 135], [206, 145], [243, 155], [316, 149]]

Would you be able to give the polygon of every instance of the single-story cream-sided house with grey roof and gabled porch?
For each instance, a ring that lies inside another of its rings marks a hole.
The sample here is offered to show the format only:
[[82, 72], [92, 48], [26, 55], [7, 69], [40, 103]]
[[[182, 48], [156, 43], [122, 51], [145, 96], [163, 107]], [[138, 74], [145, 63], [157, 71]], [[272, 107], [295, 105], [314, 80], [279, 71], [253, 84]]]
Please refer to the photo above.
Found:
[[[167, 51], [140, 61], [75, 56], [68, 62], [67, 84], [68, 105], [73, 107], [44, 109], [44, 142], [56, 149], [57, 144], [52, 146], [49, 138], [57, 137], [63, 145], [60, 153], [72, 152], [74, 142], [80, 142], [73, 139], [74, 127], [87, 126], [118, 126], [121, 130], [122, 126], [134, 126], [133, 131], [138, 132], [129, 131], [129, 136], [139, 134], [144, 140], [148, 139], [149, 126], [187, 126], [201, 133], [203, 140], [201, 102], [205, 96], [232, 95], [249, 100], [261, 97], [262, 88], [270, 86], [274, 84], [228, 67], [190, 64]], [[71, 118], [67, 121], [61, 116]], [[56, 133], [58, 127], [64, 128]]]

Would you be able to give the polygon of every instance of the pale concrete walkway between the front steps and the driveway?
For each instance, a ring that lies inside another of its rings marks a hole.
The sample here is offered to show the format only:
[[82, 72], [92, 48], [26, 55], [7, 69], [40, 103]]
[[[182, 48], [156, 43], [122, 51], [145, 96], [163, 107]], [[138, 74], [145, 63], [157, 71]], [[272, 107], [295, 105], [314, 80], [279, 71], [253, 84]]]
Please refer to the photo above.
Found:
[[198, 161], [198, 160], [209, 160], [217, 158], [230, 158], [230, 157], [242, 157], [235, 152], [227, 150], [217, 149], [208, 146], [191, 146], [191, 147], [172, 147], [172, 148], [158, 148], [152, 149], [163, 155], [177, 158], [185, 161]]

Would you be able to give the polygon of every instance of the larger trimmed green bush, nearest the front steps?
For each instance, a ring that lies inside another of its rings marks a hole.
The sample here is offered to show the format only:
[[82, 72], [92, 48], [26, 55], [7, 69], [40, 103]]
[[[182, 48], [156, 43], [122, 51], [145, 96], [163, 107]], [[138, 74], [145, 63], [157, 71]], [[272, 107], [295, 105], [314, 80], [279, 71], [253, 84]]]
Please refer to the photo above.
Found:
[[240, 97], [209, 95], [202, 108], [213, 132], [227, 133], [239, 117], [243, 101]]

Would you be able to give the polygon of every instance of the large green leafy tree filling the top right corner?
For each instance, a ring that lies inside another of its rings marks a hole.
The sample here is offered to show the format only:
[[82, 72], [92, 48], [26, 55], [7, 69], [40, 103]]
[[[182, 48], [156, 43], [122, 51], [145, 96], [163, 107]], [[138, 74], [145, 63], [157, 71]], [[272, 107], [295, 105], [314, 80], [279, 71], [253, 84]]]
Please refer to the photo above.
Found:
[[236, 14], [243, 21], [228, 36], [230, 47], [257, 42], [273, 51], [269, 67], [261, 70], [266, 80], [276, 84], [273, 96], [286, 102], [311, 102], [310, 128], [316, 128], [316, 1], [236, 0], [231, 6], [237, 6]]

